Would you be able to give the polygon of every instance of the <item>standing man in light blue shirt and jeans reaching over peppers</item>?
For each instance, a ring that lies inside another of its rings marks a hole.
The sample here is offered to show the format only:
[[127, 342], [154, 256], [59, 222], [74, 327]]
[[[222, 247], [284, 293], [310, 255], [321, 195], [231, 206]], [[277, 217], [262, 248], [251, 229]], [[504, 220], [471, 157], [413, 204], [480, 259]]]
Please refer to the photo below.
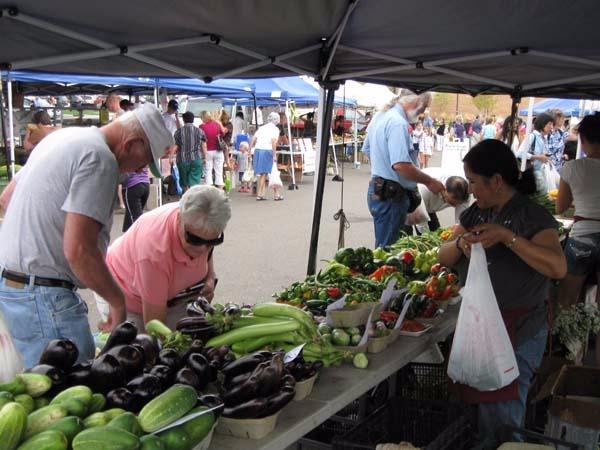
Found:
[[411, 144], [408, 124], [431, 103], [431, 94], [408, 91], [392, 100], [371, 122], [364, 151], [371, 159], [371, 181], [367, 194], [369, 211], [375, 225], [375, 246], [391, 245], [409, 209], [407, 191], [424, 184], [434, 194], [444, 185], [419, 169], [418, 155]]

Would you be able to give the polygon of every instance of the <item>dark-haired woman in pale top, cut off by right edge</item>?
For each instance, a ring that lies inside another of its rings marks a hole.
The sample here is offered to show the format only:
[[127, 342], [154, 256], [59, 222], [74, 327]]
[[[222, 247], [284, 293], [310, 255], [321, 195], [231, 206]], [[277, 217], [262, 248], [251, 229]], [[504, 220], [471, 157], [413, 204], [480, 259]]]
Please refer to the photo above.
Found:
[[[594, 272], [600, 283], [600, 114], [579, 124], [586, 158], [567, 161], [560, 172], [556, 212], [575, 205], [573, 228], [565, 246], [567, 276], [560, 284], [561, 306], [577, 302], [585, 279]], [[600, 307], [600, 289], [596, 294]], [[600, 335], [596, 337], [596, 365], [600, 365]]]

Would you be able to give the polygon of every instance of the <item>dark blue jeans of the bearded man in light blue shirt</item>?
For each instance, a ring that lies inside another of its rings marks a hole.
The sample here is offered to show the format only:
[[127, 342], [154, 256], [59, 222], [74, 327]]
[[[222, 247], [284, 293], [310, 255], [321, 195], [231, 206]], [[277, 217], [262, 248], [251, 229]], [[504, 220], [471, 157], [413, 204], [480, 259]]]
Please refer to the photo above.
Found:
[[373, 181], [369, 182], [367, 204], [373, 216], [375, 226], [375, 247], [383, 247], [395, 243], [406, 221], [408, 197], [401, 200], [378, 200], [374, 197]]

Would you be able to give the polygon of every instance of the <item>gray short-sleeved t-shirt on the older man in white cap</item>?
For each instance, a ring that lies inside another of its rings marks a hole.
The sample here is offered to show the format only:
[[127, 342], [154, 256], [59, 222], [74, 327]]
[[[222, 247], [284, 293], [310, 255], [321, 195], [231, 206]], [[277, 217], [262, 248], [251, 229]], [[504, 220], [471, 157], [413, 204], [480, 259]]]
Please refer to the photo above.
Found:
[[63, 252], [67, 212], [102, 225], [98, 247], [110, 241], [118, 164], [97, 128], [66, 128], [44, 138], [16, 176], [0, 227], [0, 267], [79, 287]]

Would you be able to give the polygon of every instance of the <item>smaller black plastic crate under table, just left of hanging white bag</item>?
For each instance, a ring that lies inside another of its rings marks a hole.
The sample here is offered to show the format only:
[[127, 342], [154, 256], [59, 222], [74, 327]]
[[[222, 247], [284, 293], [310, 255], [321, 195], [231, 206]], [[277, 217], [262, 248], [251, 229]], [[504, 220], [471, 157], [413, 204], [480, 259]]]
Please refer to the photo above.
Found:
[[396, 375], [396, 395], [413, 400], [449, 400], [447, 365], [409, 363]]

